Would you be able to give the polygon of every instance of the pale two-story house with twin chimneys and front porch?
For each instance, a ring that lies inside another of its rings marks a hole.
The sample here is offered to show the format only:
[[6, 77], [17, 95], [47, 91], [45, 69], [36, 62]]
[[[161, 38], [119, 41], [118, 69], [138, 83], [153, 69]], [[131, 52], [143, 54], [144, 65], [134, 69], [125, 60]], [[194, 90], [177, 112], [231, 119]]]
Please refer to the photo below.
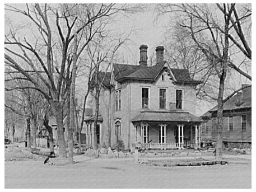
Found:
[[[142, 148], [200, 146], [201, 119], [196, 114], [196, 86], [187, 69], [171, 68], [164, 47], [156, 48], [156, 64], [147, 65], [147, 45], [141, 45], [139, 65], [113, 64], [106, 74], [99, 101], [97, 142], [114, 147], [123, 140]], [[93, 102], [89, 101], [94, 107]], [[89, 105], [87, 105], [89, 106]], [[93, 141], [93, 116], [87, 116], [87, 144]]]

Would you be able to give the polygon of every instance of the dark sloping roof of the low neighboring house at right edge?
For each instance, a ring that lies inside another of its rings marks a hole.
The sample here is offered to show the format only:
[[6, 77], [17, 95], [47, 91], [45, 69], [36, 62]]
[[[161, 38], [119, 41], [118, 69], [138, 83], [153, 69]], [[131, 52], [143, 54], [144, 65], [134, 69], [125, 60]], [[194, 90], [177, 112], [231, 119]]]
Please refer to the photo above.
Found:
[[[252, 108], [252, 86], [244, 88], [241, 93], [232, 96], [224, 103], [223, 110], [237, 110]], [[212, 111], [217, 111], [218, 106], [213, 107]]]

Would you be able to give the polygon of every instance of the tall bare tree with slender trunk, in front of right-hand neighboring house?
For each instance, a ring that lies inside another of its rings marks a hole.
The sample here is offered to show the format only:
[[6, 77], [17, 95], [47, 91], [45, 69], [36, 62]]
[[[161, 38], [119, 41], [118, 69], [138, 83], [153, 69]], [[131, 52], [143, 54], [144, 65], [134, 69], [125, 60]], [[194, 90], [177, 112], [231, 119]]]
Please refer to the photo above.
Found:
[[[247, 5], [248, 6], [248, 5]], [[249, 5], [250, 6], [250, 5]], [[251, 12], [239, 6], [241, 16], [238, 16], [235, 4], [169, 4], [160, 7], [164, 12], [178, 13], [180, 16], [180, 26], [188, 30], [189, 36], [202, 51], [202, 54], [211, 64], [215, 75], [218, 77], [217, 99], [217, 152], [216, 158], [222, 158], [222, 126], [223, 126], [223, 105], [225, 80], [229, 68], [234, 69], [242, 76], [252, 79], [249, 71], [244, 71], [250, 67], [251, 51], [247, 39], [250, 39], [250, 32], [247, 36], [243, 33], [243, 27], [248, 27]], [[246, 7], [246, 6], [245, 6]], [[219, 10], [220, 15], [215, 15], [213, 10]], [[222, 13], [222, 14], [221, 14]], [[245, 22], [246, 21], [246, 22]], [[244, 25], [242, 25], [242, 22]], [[250, 27], [250, 26], [249, 26]], [[234, 31], [236, 36], [234, 36]], [[207, 38], [201, 38], [206, 36]], [[247, 38], [246, 38], [247, 37]], [[236, 64], [235, 54], [243, 53], [246, 58], [240, 64]], [[249, 59], [249, 62], [248, 60]], [[244, 68], [241, 68], [241, 66]], [[239, 90], [236, 90], [237, 92]]]

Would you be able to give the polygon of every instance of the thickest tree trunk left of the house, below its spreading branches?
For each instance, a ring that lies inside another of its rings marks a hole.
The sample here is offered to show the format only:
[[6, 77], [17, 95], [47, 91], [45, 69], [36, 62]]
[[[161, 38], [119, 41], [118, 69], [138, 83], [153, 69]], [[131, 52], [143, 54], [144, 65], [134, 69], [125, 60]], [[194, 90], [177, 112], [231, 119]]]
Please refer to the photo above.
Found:
[[58, 135], [58, 145], [59, 145], [59, 157], [67, 157], [66, 154], [66, 143], [64, 138], [63, 130], [63, 116], [62, 116], [62, 107], [59, 102], [53, 101], [51, 104], [54, 116], [57, 123], [57, 135]]

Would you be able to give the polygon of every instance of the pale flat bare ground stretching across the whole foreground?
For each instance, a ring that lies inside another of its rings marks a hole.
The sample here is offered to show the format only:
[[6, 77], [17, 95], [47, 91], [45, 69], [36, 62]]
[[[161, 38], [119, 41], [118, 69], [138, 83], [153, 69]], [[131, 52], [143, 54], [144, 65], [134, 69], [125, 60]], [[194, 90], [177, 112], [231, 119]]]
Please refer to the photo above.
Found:
[[[225, 157], [225, 156], [224, 156]], [[161, 167], [125, 158], [81, 158], [73, 165], [4, 162], [5, 188], [252, 188], [250, 155], [226, 156], [229, 165]], [[171, 161], [169, 158], [168, 161]]]

